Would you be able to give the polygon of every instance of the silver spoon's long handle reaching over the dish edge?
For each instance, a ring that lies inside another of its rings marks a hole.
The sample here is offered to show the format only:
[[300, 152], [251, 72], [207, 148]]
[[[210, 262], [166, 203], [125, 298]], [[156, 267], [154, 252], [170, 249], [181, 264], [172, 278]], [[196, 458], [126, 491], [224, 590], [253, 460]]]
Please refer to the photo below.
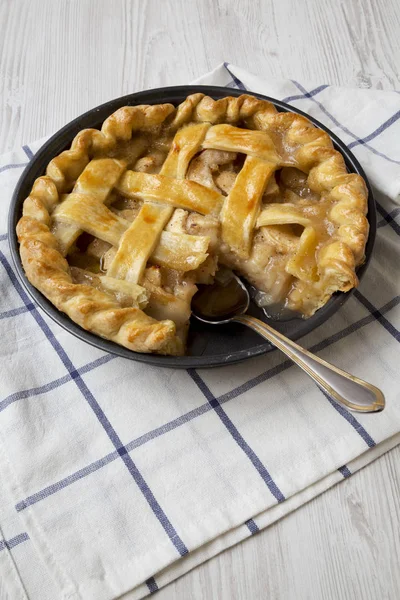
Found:
[[232, 320], [247, 325], [274, 344], [339, 404], [356, 412], [379, 412], [385, 408], [383, 393], [371, 383], [329, 364], [255, 317], [241, 315]]

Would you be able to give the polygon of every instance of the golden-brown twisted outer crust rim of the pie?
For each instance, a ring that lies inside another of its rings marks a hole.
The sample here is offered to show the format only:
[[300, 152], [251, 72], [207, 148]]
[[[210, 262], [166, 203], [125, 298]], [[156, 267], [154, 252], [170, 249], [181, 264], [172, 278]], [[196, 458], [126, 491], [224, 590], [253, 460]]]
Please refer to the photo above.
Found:
[[[135, 306], [121, 308], [112, 294], [74, 283], [68, 262], [50, 230], [51, 214], [59, 205], [61, 196], [72, 191], [92, 159], [118, 158], [118, 145], [130, 140], [137, 143], [137, 148], [132, 146], [130, 150], [131, 157], [138, 157], [143, 144], [140, 138], [142, 132], [154, 132], [164, 126], [164, 130], [173, 135], [188, 123], [208, 125], [198, 130], [196, 144], [203, 143], [205, 139], [203, 147], [212, 147], [210, 140], [228, 131], [231, 125], [242, 126], [245, 123], [249, 129], [265, 132], [273, 146], [268, 140], [265, 145], [264, 140], [261, 156], [257, 155], [255, 146], [249, 153], [260, 160], [271, 160], [271, 156], [276, 157], [275, 148], [280, 167], [294, 166], [308, 174], [309, 188], [324, 194], [324, 198], [331, 202], [329, 218], [337, 230], [334, 239], [317, 251], [321, 283], [320, 289], [314, 289], [314, 292], [319, 294], [318, 306], [322, 306], [334, 291], [346, 291], [357, 285], [355, 267], [364, 257], [368, 237], [365, 182], [359, 175], [347, 173], [343, 157], [333, 148], [328, 134], [314, 127], [305, 117], [279, 113], [269, 102], [250, 95], [215, 101], [203, 94], [194, 94], [177, 108], [170, 104], [121, 108], [104, 121], [100, 131], [81, 131], [74, 138], [71, 149], [49, 163], [46, 175], [35, 181], [24, 202], [17, 233], [22, 264], [29, 281], [36, 288], [84, 329], [138, 352], [181, 354], [183, 346], [176, 335], [175, 324], [168, 319], [157, 321]], [[222, 129], [210, 128], [209, 124], [221, 124]], [[245, 134], [241, 135], [243, 138]], [[229, 147], [221, 143], [218, 147], [233, 152], [243, 151], [240, 140], [234, 142], [236, 146], [232, 142]], [[173, 169], [177, 176], [179, 171], [180, 178], [194, 152], [195, 146], [186, 152], [180, 163], [179, 158], [171, 155], [171, 165], [175, 165]], [[129, 173], [125, 178], [130, 177]], [[146, 177], [161, 181], [163, 175]], [[187, 181], [184, 184], [190, 188], [190, 193], [192, 183]], [[207, 191], [207, 198], [211, 193], [220, 201], [221, 196], [214, 190]], [[304, 297], [300, 285], [289, 295], [289, 304], [311, 314], [315, 307], [309, 308]]]

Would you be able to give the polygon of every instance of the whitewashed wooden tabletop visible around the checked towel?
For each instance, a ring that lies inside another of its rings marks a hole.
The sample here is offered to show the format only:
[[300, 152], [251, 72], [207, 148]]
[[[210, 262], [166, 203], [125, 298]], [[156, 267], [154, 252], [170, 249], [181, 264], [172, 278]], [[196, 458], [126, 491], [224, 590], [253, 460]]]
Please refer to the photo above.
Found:
[[[222, 61], [400, 90], [399, 0], [0, 0], [0, 152]], [[400, 447], [158, 593], [397, 600]]]

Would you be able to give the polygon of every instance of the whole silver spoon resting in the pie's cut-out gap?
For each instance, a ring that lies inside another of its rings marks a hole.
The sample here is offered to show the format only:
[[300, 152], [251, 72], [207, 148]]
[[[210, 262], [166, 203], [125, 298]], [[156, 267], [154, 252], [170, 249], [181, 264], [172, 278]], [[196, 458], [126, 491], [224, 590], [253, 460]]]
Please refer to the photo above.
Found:
[[192, 312], [196, 319], [211, 325], [232, 322], [247, 325], [286, 354], [336, 402], [350, 410], [379, 412], [385, 408], [385, 397], [380, 389], [329, 364], [263, 321], [246, 315], [249, 304], [249, 292], [232, 274], [228, 282], [199, 286], [192, 300]]

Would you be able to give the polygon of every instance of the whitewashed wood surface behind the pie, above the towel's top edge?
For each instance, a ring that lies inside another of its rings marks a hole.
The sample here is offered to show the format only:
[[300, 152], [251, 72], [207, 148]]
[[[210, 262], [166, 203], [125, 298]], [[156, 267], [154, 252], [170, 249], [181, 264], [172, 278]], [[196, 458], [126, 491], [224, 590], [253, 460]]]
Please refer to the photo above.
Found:
[[397, 0], [0, 0], [0, 152], [227, 60], [265, 77], [400, 88]]

